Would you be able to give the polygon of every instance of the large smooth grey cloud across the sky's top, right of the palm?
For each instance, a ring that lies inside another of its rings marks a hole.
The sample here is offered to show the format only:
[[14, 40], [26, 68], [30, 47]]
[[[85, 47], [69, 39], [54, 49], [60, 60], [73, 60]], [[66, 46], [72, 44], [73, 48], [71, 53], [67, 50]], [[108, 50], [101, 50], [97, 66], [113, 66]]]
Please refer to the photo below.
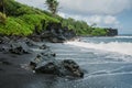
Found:
[[131, 8], [131, 0], [58, 0], [63, 12], [117, 14]]

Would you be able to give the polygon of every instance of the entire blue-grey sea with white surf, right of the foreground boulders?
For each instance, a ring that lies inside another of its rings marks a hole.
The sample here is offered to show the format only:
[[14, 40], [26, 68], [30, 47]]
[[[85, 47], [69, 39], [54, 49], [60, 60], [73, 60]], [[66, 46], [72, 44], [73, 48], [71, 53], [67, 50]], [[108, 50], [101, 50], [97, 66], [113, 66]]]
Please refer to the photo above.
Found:
[[80, 37], [48, 44], [56, 59], [74, 59], [84, 78], [56, 78], [50, 88], [132, 88], [132, 36]]

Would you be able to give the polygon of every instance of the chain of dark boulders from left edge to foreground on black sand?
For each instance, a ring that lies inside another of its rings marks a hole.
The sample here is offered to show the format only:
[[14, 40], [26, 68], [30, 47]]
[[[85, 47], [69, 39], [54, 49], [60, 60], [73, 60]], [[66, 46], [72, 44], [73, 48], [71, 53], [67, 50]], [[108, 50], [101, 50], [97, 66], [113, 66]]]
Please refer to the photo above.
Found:
[[[25, 69], [35, 72], [36, 74], [51, 74], [61, 77], [84, 77], [84, 72], [77, 63], [73, 59], [55, 59], [56, 54], [53, 53], [50, 46], [42, 44], [35, 44], [33, 41], [26, 37], [4, 37], [1, 40], [0, 52], [10, 54], [15, 57], [24, 54], [34, 54], [35, 57], [30, 58]], [[9, 43], [7, 43], [9, 42]], [[38, 50], [38, 52], [33, 51]], [[32, 50], [32, 51], [31, 51]], [[13, 62], [13, 61], [12, 61]], [[7, 62], [0, 62], [0, 64], [8, 64]], [[24, 67], [22, 67], [24, 68]]]

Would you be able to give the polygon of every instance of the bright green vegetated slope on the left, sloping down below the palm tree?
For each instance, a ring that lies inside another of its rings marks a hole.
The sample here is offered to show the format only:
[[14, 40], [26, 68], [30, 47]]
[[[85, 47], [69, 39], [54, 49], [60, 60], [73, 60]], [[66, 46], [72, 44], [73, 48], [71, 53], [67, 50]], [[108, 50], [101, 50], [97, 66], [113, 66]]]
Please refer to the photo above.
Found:
[[[4, 13], [0, 12], [0, 33], [6, 35], [29, 35], [32, 34], [37, 26], [42, 30], [42, 21], [59, 22], [41, 10], [20, 4], [13, 0], [6, 3]], [[45, 24], [45, 26], [46, 26]]]

